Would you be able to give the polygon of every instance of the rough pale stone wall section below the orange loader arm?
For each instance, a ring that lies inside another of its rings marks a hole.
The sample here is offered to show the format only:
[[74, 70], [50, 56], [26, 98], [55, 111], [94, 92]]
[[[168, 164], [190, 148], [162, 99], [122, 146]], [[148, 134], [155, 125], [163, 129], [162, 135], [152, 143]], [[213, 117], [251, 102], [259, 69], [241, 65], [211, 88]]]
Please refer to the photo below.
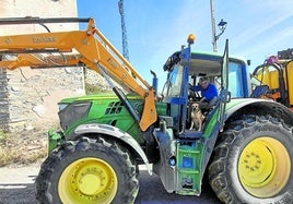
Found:
[[52, 125], [58, 120], [57, 103], [84, 94], [81, 68], [22, 68], [8, 71], [7, 79], [10, 131]]

